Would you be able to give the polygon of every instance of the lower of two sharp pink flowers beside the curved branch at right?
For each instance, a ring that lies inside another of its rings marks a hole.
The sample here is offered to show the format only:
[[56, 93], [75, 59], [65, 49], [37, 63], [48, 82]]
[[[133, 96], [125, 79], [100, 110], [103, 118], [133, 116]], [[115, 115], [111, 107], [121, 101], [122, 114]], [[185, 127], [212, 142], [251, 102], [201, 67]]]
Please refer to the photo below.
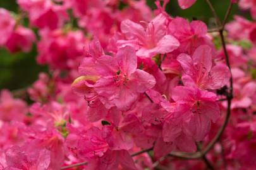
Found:
[[183, 107], [186, 116], [184, 127], [193, 139], [201, 141], [210, 130], [210, 124], [220, 116], [216, 94], [197, 88], [176, 86], [172, 98]]

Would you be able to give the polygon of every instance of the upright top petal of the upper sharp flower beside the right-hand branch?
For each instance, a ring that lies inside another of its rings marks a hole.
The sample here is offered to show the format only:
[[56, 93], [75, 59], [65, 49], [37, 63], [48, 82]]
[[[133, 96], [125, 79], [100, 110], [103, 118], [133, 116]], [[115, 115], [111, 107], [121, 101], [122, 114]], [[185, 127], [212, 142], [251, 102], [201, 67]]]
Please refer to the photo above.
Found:
[[209, 72], [212, 68], [212, 48], [208, 45], [199, 46], [195, 50], [192, 59], [195, 65], [204, 67]]

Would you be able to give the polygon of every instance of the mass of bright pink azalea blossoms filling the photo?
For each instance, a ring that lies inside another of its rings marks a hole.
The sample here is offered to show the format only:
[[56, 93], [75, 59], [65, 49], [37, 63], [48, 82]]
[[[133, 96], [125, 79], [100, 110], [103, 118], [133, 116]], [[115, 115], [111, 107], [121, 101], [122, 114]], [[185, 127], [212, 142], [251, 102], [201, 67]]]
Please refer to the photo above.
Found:
[[[219, 37], [169, 16], [168, 0], [154, 11], [145, 0], [17, 3], [20, 14], [0, 8], [0, 47], [35, 42], [50, 71], [25, 89], [28, 103], [1, 91], [0, 169], [205, 169], [172, 156], [201, 153], [216, 134], [204, 159], [255, 167], [256, 21], [235, 16]], [[238, 6], [256, 18], [255, 1]]]

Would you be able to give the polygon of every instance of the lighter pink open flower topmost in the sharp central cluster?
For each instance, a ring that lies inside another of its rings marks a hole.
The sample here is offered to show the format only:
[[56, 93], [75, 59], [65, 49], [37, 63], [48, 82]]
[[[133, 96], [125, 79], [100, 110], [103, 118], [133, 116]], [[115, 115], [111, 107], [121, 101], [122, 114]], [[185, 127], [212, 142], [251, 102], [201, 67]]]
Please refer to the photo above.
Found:
[[121, 31], [127, 40], [118, 40], [118, 46], [131, 45], [137, 50], [136, 55], [139, 57], [154, 57], [157, 54], [172, 52], [180, 43], [167, 34], [167, 23], [168, 19], [164, 14], [156, 16], [146, 28], [125, 20], [121, 23]]

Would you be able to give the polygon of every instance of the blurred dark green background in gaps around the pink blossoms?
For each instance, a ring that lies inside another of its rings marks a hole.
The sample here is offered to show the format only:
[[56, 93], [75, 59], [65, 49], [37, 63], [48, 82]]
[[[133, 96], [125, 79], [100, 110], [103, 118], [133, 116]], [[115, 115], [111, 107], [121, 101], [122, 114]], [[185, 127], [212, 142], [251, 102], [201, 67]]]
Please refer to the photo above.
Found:
[[[195, 3], [192, 8], [186, 10], [180, 9], [177, 1], [178, 0], [171, 0], [167, 6], [167, 11], [172, 16], [183, 16], [189, 20], [197, 18], [198, 20], [205, 21], [205, 23], [210, 23], [212, 13], [204, 0], [197, 0], [197, 3]], [[224, 18], [229, 0], [212, 0], [211, 2], [219, 17]], [[153, 0], [147, 0], [147, 3], [151, 8], [155, 8]], [[0, 0], [0, 7], [6, 8], [9, 11], [14, 11], [15, 13], [18, 11], [16, 0]], [[250, 16], [248, 12], [242, 13], [239, 11], [236, 5], [231, 11], [229, 20], [233, 18], [233, 14]], [[35, 45], [32, 52], [28, 54], [21, 52], [10, 54], [4, 48], [0, 48], [0, 89], [8, 88], [13, 90], [26, 88], [37, 79], [39, 72], [47, 71], [46, 66], [36, 64], [36, 55], [37, 50]]]

